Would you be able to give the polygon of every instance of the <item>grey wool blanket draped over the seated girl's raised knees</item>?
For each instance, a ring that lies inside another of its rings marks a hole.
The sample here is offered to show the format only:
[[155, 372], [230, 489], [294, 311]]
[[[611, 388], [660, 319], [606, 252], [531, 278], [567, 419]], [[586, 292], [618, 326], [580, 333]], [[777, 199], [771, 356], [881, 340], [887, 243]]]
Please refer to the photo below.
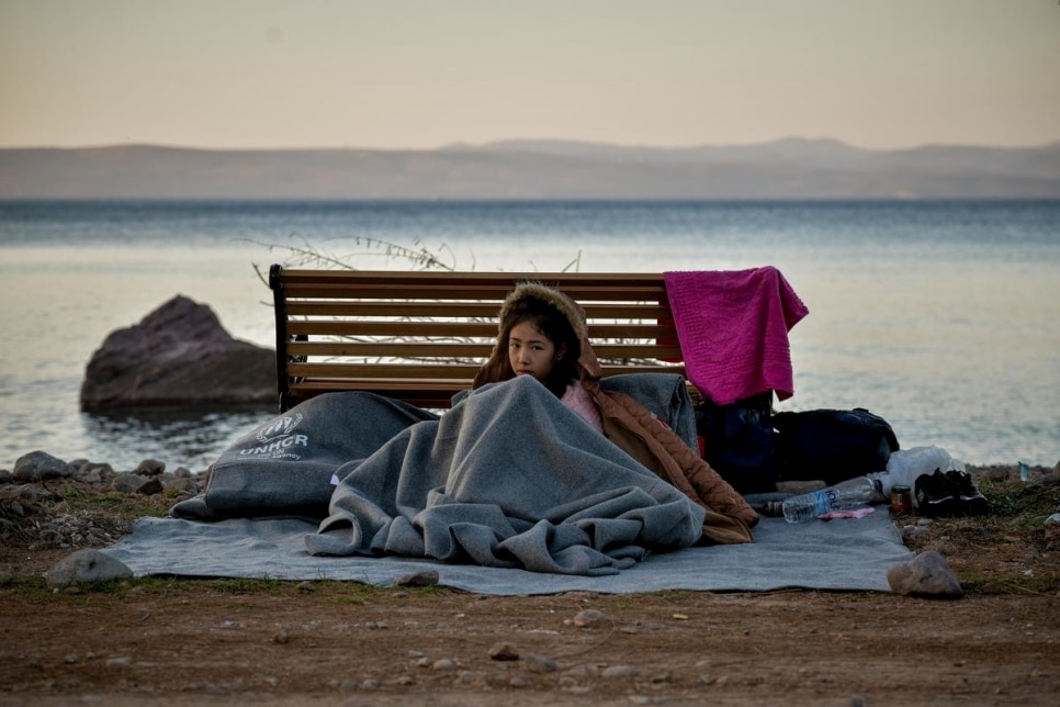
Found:
[[313, 554], [600, 575], [702, 535], [702, 508], [530, 377], [473, 391], [337, 475]]

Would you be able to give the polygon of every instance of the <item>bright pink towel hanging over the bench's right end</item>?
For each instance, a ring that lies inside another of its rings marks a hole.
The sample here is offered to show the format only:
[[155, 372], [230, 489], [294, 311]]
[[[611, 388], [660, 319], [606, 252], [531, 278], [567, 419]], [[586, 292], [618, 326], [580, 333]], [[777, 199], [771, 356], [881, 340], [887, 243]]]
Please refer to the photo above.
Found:
[[766, 391], [791, 397], [788, 332], [810, 311], [780, 271], [665, 272], [688, 380], [725, 405]]

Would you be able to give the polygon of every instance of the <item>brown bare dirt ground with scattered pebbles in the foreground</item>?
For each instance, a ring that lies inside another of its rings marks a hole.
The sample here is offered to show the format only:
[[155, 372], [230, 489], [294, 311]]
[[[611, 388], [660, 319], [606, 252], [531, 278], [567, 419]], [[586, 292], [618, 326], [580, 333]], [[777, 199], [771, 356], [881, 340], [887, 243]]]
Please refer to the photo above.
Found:
[[910, 542], [943, 552], [963, 598], [169, 579], [53, 592], [40, 573], [69, 550], [9, 546], [0, 705], [1058, 704], [1060, 532], [955, 519]]

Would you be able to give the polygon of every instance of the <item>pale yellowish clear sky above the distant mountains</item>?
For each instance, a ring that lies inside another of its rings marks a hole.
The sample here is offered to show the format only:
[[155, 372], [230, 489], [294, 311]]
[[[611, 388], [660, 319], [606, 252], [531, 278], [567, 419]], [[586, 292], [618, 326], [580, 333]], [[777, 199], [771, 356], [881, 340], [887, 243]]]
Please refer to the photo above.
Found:
[[1058, 0], [0, 0], [0, 147], [1060, 141]]

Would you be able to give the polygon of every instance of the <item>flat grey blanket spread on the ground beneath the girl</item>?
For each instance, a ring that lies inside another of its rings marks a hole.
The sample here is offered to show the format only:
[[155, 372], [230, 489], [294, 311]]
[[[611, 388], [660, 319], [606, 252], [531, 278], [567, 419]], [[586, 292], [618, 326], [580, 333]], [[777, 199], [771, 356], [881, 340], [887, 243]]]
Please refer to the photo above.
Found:
[[137, 576], [331, 580], [392, 585], [425, 569], [443, 586], [514, 596], [560, 592], [632, 594], [662, 590], [764, 592], [787, 587], [887, 592], [887, 569], [907, 562], [886, 507], [859, 519], [792, 525], [763, 518], [749, 545], [693, 547], [650, 556], [607, 576], [578, 576], [406, 558], [314, 557], [306, 534], [316, 524], [295, 518], [238, 518], [201, 523], [143, 518], [104, 550]]

